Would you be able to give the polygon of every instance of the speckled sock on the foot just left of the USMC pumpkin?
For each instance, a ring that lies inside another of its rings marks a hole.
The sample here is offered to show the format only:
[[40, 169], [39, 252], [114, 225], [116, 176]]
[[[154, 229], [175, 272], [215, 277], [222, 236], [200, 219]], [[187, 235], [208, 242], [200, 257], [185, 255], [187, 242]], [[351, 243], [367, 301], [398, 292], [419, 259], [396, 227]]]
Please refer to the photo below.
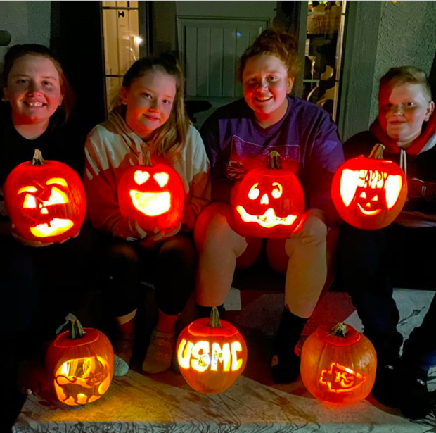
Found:
[[174, 353], [174, 340], [174, 332], [160, 332], [154, 329], [151, 333], [142, 370], [152, 375], [168, 370], [171, 367], [172, 354]]

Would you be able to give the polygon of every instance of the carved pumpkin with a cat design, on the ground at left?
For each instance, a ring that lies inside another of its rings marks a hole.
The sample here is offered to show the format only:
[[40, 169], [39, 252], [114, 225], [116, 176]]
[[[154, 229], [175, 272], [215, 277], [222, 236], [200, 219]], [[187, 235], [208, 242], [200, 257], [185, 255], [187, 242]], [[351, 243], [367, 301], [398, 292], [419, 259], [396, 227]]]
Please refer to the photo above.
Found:
[[53, 375], [59, 401], [70, 406], [91, 403], [108, 391], [113, 377], [113, 348], [108, 337], [82, 328], [70, 315], [71, 329], [58, 335], [46, 353], [46, 370]]

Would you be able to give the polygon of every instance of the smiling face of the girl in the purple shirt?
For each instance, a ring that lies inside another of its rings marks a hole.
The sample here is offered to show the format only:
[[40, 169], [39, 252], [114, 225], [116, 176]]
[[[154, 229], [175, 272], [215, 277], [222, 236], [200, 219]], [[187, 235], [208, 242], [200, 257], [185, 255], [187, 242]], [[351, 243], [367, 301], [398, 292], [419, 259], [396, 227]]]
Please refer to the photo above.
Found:
[[260, 125], [274, 125], [283, 118], [293, 82], [280, 58], [258, 54], [247, 59], [242, 74], [244, 98]]

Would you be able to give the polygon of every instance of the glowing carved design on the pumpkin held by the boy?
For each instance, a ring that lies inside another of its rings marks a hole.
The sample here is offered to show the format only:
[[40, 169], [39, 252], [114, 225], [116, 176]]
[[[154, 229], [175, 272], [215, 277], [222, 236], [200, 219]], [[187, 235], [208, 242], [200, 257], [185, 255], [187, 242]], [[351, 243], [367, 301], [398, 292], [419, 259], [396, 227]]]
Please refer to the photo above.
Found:
[[402, 190], [402, 177], [378, 170], [348, 170], [342, 172], [340, 196], [345, 206], [352, 201], [364, 215], [378, 215], [390, 210]]

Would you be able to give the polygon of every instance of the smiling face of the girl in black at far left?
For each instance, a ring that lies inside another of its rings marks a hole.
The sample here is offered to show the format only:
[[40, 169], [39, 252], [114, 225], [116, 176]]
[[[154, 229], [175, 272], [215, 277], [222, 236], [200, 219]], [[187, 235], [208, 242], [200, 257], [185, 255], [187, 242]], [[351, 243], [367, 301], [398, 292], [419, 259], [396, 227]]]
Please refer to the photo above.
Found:
[[4, 87], [14, 125], [48, 123], [62, 103], [60, 78], [54, 63], [44, 56], [26, 54], [13, 63]]

